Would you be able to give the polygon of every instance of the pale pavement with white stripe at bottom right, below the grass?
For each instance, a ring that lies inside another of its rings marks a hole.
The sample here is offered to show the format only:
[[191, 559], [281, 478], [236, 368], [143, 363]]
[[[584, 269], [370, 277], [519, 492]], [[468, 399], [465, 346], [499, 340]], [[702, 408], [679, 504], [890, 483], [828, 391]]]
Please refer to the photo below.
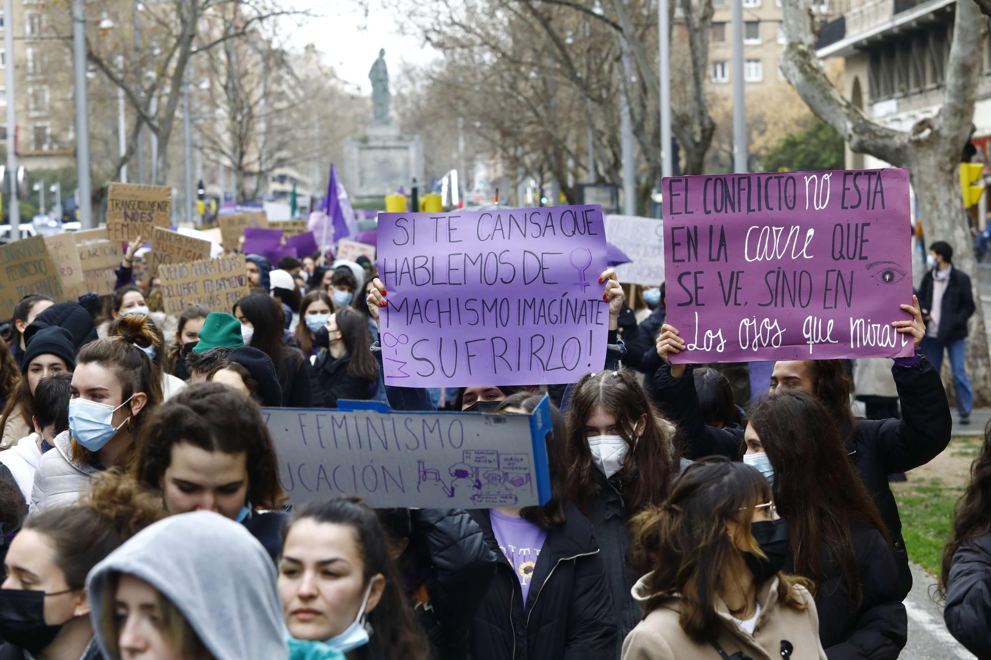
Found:
[[905, 599], [909, 615], [909, 643], [900, 660], [974, 660], [976, 656], [963, 648], [946, 631], [942, 606], [930, 598], [936, 592], [936, 579], [912, 564], [912, 592]]

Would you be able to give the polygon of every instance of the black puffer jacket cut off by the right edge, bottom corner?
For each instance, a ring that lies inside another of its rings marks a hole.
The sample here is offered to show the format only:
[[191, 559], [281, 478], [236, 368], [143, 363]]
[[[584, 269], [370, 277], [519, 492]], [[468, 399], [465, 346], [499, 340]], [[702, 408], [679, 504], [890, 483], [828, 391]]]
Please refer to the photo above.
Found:
[[991, 534], [962, 543], [953, 554], [942, 618], [968, 651], [991, 658]]

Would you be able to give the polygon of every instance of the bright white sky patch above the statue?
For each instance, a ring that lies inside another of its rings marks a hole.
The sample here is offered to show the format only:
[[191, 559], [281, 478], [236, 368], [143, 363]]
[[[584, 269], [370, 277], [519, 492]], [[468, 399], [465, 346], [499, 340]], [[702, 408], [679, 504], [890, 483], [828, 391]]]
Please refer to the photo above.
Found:
[[[402, 62], [423, 64], [436, 53], [421, 47], [416, 38], [400, 35], [393, 14], [385, 11], [379, 0], [367, 1], [368, 16], [361, 0], [297, 0], [293, 6], [319, 16], [307, 19], [301, 28], [293, 26], [292, 41], [299, 50], [306, 44], [316, 46], [340, 78], [360, 93], [371, 95], [369, 69], [379, 49], [385, 48], [385, 63], [392, 79]], [[395, 89], [394, 83], [389, 86]]]

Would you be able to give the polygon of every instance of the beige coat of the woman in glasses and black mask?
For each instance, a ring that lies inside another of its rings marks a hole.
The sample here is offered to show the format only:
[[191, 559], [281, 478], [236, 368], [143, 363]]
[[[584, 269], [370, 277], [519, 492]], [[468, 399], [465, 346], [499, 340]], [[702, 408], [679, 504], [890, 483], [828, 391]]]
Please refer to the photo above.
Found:
[[[633, 600], [641, 607], [647, 605], [649, 592], [645, 578], [633, 587]], [[729, 615], [722, 602], [716, 609], [722, 619], [722, 631], [716, 642], [726, 655], [742, 651], [753, 660], [778, 660], [782, 642], [791, 643], [791, 660], [826, 660], [826, 651], [819, 641], [819, 616], [812, 595], [801, 587], [798, 593], [809, 607], [796, 609], [778, 605], [778, 579], [772, 578], [757, 593], [760, 616], [751, 636]], [[694, 660], [718, 658], [716, 648], [706, 642], [692, 640], [678, 621], [681, 601], [672, 597], [647, 613], [633, 630], [626, 635], [622, 645], [622, 660]]]

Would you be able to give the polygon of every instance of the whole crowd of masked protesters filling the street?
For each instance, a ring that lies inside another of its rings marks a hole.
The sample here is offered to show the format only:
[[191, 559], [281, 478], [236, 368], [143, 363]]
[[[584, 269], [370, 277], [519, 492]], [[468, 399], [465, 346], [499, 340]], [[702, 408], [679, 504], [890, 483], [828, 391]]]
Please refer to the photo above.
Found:
[[[943, 351], [963, 423], [971, 406], [970, 281], [945, 243], [919, 297], [887, 310], [911, 357], [777, 362], [766, 392], [741, 385], [745, 364], [675, 364], [686, 343], [663, 285], [624, 287], [612, 269], [599, 369], [429, 390], [384, 383], [386, 292], [369, 260], [249, 255], [249, 295], [172, 317], [155, 308], [161, 282], [134, 283], [140, 243], [102, 304], [26, 296], [0, 347], [0, 660], [905, 647], [912, 574], [888, 482], [949, 442]], [[551, 497], [521, 508], [286, 506], [261, 409], [525, 415], [545, 393]], [[939, 596], [950, 632], [991, 657], [991, 433], [972, 477]]]

